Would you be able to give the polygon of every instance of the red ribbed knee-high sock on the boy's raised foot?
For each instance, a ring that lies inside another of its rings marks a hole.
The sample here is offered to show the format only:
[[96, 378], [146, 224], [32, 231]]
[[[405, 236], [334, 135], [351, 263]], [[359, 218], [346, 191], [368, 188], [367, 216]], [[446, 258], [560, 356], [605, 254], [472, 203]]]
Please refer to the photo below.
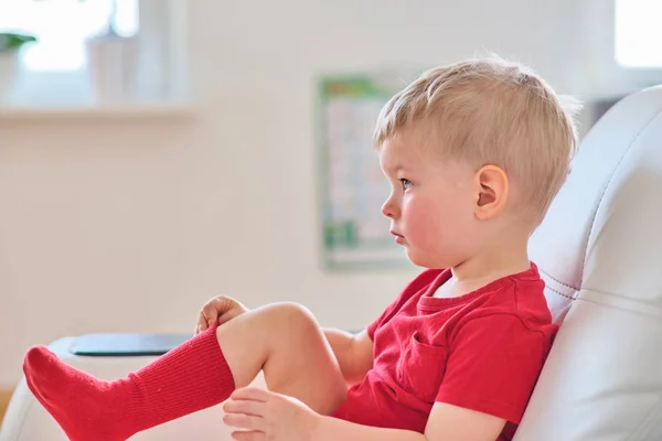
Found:
[[23, 372], [36, 399], [72, 441], [124, 441], [223, 402], [235, 388], [216, 326], [115, 381], [67, 365], [44, 346], [28, 352]]

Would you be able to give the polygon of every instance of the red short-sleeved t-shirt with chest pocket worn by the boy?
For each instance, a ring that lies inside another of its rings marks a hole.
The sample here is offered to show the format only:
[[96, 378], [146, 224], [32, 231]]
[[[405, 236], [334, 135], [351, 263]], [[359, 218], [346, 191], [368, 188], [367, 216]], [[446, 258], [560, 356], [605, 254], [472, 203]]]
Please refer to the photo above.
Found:
[[537, 267], [457, 298], [434, 298], [450, 270], [414, 279], [367, 332], [373, 368], [334, 412], [365, 426], [425, 431], [435, 401], [508, 420], [511, 440], [557, 326]]

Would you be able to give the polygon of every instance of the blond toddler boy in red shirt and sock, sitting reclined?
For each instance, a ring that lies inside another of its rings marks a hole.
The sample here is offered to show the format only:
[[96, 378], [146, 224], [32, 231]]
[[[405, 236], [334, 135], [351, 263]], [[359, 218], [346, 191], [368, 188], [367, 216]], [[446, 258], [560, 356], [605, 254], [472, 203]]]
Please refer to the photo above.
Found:
[[[569, 172], [572, 115], [527, 68], [476, 58], [395, 95], [374, 141], [382, 211], [425, 268], [378, 319], [350, 335], [221, 297], [192, 340], [115, 381], [31, 348], [28, 384], [67, 435], [124, 440], [226, 401], [237, 440], [512, 439], [557, 330], [527, 243]], [[246, 388], [260, 370], [269, 390]]]

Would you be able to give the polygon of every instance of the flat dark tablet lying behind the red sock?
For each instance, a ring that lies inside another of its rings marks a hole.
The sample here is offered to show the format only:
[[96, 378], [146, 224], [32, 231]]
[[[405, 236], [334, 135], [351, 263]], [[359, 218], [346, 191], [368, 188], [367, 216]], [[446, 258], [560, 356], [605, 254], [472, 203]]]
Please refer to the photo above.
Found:
[[159, 356], [179, 346], [192, 334], [85, 334], [77, 337], [70, 352], [87, 356]]

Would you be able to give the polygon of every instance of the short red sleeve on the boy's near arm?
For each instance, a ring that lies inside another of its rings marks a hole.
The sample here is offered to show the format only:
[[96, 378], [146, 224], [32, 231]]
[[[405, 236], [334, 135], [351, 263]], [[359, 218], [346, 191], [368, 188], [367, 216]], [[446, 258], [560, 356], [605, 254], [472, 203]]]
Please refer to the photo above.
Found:
[[449, 347], [436, 401], [519, 424], [548, 346], [545, 333], [530, 330], [516, 315], [473, 319]]

